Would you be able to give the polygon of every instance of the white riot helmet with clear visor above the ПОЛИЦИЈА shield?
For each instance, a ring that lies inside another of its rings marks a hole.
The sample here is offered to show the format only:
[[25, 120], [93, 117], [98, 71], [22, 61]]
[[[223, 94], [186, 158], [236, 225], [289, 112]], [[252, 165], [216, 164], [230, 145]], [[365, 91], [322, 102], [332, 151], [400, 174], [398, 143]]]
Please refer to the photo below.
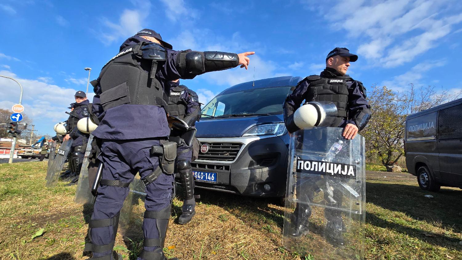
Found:
[[332, 102], [305, 103], [293, 114], [293, 122], [302, 129], [304, 127], [325, 127], [334, 122], [337, 107]]

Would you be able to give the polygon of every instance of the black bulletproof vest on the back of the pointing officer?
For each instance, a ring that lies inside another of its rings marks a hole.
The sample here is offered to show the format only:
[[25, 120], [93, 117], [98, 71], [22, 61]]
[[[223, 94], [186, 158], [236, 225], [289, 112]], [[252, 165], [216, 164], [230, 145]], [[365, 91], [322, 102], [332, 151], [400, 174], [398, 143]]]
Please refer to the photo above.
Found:
[[[122, 49], [101, 70], [98, 80], [103, 91], [100, 99], [104, 111], [123, 104], [166, 107], [162, 85], [154, 77], [158, 61], [141, 59], [141, 47], [145, 43]], [[151, 68], [149, 73], [139, 62]]]

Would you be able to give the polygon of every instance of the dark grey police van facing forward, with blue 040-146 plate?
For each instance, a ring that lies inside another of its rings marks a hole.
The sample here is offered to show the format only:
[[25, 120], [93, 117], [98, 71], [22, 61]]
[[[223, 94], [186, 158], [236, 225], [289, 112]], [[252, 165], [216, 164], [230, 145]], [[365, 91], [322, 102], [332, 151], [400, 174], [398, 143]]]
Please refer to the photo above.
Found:
[[289, 133], [282, 104], [303, 78], [278, 77], [234, 85], [203, 106], [191, 163], [198, 188], [254, 197], [286, 190]]

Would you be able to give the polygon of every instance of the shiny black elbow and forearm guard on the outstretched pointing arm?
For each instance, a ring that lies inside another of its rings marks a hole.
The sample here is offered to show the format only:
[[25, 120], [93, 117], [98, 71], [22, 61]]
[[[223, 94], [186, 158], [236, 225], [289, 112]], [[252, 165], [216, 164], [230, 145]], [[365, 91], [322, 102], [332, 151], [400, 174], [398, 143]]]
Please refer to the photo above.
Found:
[[235, 53], [221, 51], [191, 51], [185, 55], [186, 71], [191, 74], [220, 71], [239, 65], [239, 57]]

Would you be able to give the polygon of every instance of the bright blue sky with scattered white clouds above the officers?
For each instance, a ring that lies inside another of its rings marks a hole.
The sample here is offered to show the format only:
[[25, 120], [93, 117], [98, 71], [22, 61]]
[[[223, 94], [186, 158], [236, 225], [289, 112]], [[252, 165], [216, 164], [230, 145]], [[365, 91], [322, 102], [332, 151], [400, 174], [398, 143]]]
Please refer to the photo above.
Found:
[[[96, 79], [120, 44], [143, 28], [176, 50], [256, 52], [248, 71], [182, 80], [202, 103], [252, 80], [254, 67], [255, 79], [319, 74], [334, 47], [359, 55], [348, 74], [366, 87], [462, 89], [459, 0], [1, 0], [0, 75], [24, 86], [25, 114], [37, 133], [54, 134], [75, 91], [86, 89], [84, 67]], [[0, 78], [0, 108], [11, 109], [18, 97], [18, 86]]]

